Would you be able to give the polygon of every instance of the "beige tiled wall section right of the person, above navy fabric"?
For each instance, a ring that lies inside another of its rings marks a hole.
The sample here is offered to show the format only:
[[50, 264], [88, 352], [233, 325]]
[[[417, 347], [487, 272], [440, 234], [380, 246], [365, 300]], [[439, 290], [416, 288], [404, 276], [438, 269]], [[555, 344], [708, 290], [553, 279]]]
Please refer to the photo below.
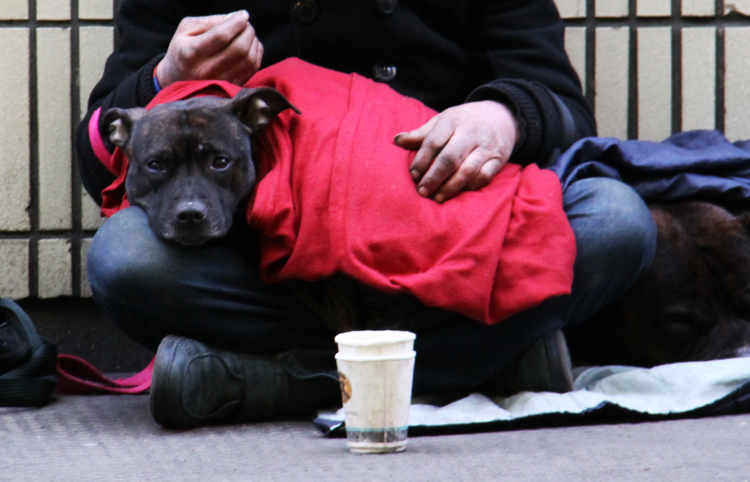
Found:
[[601, 136], [750, 138], [750, 0], [556, 0]]

